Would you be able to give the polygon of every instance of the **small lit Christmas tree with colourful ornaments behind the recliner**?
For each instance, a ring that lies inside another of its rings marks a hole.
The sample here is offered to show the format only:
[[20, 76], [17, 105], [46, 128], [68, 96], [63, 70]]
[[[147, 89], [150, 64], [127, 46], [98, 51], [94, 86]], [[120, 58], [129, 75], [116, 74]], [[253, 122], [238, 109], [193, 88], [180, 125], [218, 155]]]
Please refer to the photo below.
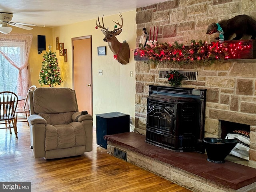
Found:
[[62, 83], [58, 59], [56, 58], [56, 53], [52, 52], [51, 47], [48, 46], [49, 52], [46, 52], [43, 56], [44, 61], [42, 62], [42, 68], [39, 74], [40, 79], [38, 80], [41, 86], [49, 85], [50, 87], [54, 87]]

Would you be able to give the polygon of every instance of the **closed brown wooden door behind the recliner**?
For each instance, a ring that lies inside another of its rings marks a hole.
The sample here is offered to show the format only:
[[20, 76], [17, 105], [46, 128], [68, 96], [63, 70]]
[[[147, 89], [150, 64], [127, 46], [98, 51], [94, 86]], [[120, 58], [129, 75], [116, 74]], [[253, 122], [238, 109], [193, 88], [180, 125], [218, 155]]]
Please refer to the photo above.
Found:
[[92, 114], [92, 36], [72, 38], [73, 89], [79, 111]]

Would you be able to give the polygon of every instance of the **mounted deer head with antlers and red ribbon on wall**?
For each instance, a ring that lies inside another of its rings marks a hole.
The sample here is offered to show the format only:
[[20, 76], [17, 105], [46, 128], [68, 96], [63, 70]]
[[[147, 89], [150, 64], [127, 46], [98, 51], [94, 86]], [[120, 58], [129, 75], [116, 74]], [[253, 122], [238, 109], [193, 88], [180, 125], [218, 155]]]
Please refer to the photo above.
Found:
[[[104, 16], [104, 15], [103, 15]], [[122, 26], [123, 26], [123, 17], [120, 14], [120, 18], [122, 20], [121, 24], [117, 21], [114, 22], [116, 25], [119, 26], [119, 28], [116, 28], [117, 26], [115, 26], [114, 30], [109, 31], [108, 28], [106, 29], [104, 26], [104, 22], [103, 22], [103, 16], [102, 16], [102, 26], [100, 24], [100, 18], [98, 17], [98, 22], [96, 21], [96, 26], [98, 28], [102, 28], [104, 30], [101, 30], [102, 33], [105, 35], [104, 37], [104, 42], [108, 42], [108, 46], [110, 48], [110, 50], [114, 53], [114, 58], [118, 60], [118, 62], [120, 62], [121, 64], [127, 64], [129, 63], [129, 59], [130, 59], [130, 48], [128, 43], [126, 43], [125, 41], [120, 43], [116, 36], [119, 35], [122, 32]]]

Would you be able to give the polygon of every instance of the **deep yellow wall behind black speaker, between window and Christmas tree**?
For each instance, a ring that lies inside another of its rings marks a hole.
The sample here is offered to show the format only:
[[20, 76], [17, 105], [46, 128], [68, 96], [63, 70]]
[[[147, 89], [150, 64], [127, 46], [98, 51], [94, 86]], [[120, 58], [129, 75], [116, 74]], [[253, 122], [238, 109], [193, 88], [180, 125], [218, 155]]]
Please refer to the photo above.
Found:
[[48, 51], [48, 45], [49, 44], [52, 45], [52, 28], [33, 27], [32, 30], [24, 30], [18, 27], [12, 27], [12, 32], [10, 34], [12, 33], [32, 33], [33, 34], [28, 62], [30, 64], [30, 68], [32, 69], [32, 72], [30, 73], [32, 85], [36, 85], [37, 87], [40, 87], [38, 83], [38, 79], [39, 79], [39, 72], [42, 67], [43, 55], [45, 54], [45, 51], [43, 51], [41, 54], [38, 54], [37, 36], [38, 35], [46, 36], [46, 51]]

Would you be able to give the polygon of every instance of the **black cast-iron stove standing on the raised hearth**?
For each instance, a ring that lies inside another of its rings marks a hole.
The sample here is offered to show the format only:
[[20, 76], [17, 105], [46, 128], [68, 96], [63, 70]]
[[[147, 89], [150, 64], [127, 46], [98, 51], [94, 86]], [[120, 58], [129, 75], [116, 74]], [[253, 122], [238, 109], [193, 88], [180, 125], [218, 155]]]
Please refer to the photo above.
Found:
[[149, 86], [146, 142], [175, 150], [204, 153], [206, 90]]

